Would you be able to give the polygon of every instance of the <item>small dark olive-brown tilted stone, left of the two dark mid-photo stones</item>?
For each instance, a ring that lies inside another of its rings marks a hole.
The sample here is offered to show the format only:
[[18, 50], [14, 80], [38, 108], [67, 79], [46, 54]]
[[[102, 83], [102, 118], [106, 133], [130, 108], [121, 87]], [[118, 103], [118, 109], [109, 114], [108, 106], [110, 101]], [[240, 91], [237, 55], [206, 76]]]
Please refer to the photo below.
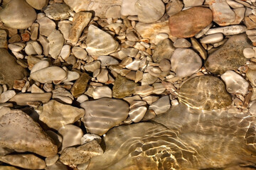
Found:
[[70, 89], [71, 94], [77, 98], [81, 94], [85, 93], [87, 83], [90, 80], [90, 76], [86, 73], [82, 73], [73, 84], [72, 88]]

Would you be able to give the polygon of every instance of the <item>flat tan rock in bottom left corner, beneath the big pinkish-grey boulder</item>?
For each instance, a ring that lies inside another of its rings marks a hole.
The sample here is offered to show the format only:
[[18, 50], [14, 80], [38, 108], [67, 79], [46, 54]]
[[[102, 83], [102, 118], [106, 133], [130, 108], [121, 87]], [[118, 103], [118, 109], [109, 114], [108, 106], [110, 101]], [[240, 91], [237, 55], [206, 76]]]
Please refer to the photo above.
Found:
[[46, 168], [46, 162], [33, 154], [9, 154], [4, 157], [0, 157], [0, 161], [24, 169]]

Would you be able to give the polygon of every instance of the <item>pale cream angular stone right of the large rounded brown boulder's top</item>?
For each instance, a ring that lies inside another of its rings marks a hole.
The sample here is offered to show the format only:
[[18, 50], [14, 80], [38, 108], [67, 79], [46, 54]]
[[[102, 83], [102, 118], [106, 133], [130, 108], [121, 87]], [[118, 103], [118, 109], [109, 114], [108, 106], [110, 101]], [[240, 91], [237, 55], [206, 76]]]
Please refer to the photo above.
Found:
[[242, 95], [247, 94], [249, 83], [236, 72], [228, 70], [221, 75], [221, 79], [225, 81], [228, 93]]

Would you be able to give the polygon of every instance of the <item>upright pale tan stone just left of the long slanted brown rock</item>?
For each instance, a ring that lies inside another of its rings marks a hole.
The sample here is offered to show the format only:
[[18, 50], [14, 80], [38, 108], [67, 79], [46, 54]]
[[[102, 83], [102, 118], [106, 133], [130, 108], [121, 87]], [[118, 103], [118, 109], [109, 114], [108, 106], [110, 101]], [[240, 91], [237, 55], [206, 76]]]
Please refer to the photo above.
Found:
[[56, 59], [64, 45], [63, 35], [59, 30], [53, 30], [53, 32], [48, 36], [47, 40], [49, 41], [50, 45], [49, 54], [51, 57]]

